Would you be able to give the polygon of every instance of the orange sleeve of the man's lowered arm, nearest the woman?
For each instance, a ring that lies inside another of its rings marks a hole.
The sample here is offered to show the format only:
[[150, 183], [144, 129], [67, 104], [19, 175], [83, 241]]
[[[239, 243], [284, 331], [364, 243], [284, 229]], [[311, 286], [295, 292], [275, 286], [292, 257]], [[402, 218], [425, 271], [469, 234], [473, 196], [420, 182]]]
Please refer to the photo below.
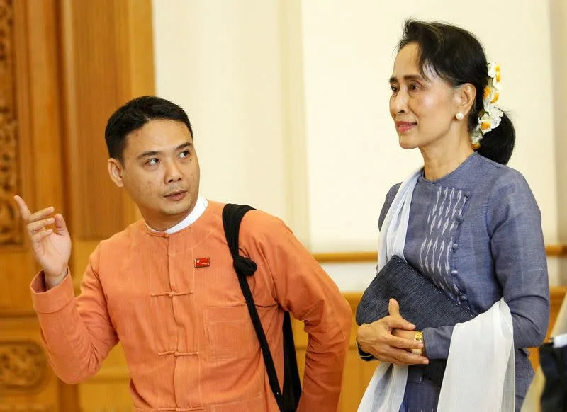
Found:
[[276, 299], [304, 322], [308, 333], [298, 411], [336, 411], [352, 311], [335, 282], [291, 230], [279, 219], [260, 219], [264, 229], [254, 234], [254, 243], [271, 273]]

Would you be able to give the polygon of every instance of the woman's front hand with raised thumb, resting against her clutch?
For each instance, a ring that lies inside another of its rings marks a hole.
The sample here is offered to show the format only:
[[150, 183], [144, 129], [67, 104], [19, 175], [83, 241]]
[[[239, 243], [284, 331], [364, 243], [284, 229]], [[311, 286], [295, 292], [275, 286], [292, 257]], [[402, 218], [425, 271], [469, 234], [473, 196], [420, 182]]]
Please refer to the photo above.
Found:
[[400, 306], [395, 299], [388, 303], [388, 316], [371, 324], [362, 324], [357, 333], [357, 342], [366, 353], [376, 359], [396, 365], [421, 365], [429, 363], [427, 357], [411, 353], [423, 348], [413, 339], [415, 325], [403, 319]]

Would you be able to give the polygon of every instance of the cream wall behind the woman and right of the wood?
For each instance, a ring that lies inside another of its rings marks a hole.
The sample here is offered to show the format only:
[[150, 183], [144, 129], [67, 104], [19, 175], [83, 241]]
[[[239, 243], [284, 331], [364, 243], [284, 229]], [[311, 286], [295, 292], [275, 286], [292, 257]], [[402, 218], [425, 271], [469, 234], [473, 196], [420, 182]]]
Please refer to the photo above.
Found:
[[[314, 252], [375, 250], [386, 191], [421, 162], [398, 147], [388, 115], [401, 25], [462, 25], [503, 69], [501, 106], [517, 128], [510, 165], [553, 244], [566, 203], [556, 176], [567, 174], [551, 110], [550, 11], [561, 3], [154, 0], [157, 93], [195, 126], [203, 195], [276, 214]], [[551, 261], [554, 278], [557, 268]]]

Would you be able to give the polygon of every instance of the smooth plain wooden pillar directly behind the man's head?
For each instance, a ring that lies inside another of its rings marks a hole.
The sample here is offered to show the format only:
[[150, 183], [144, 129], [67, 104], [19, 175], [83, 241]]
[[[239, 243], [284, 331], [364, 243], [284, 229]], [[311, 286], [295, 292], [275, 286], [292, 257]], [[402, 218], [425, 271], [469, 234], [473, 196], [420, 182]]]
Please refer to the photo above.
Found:
[[108, 178], [104, 128], [119, 105], [154, 93], [151, 2], [62, 0], [61, 16], [69, 222], [80, 241], [99, 241], [136, 217]]

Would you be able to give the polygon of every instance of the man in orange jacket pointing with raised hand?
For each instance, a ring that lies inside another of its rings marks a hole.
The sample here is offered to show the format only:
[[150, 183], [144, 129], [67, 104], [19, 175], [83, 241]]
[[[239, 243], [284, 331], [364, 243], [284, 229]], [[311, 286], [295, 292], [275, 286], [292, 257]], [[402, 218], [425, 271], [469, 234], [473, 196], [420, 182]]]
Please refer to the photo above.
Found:
[[[137, 411], [278, 411], [232, 268], [223, 205], [198, 195], [186, 113], [161, 98], [136, 98], [111, 116], [105, 137], [111, 179], [143, 219], [97, 246], [79, 297], [62, 215], [53, 207], [32, 214], [16, 196], [43, 267], [31, 290], [55, 372], [82, 382], [120, 341]], [[279, 382], [281, 325], [291, 311], [309, 334], [298, 411], [335, 411], [351, 323], [347, 302], [279, 219], [248, 212], [239, 246], [258, 265], [248, 281]]]

